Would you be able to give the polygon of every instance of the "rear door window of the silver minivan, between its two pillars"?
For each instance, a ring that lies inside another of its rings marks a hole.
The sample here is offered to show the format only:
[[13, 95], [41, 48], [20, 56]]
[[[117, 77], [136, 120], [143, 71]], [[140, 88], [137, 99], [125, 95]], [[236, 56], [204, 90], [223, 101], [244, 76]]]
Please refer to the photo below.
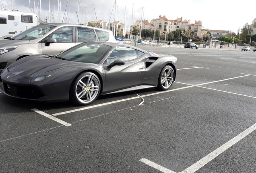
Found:
[[78, 42], [96, 41], [96, 35], [93, 29], [77, 28]]

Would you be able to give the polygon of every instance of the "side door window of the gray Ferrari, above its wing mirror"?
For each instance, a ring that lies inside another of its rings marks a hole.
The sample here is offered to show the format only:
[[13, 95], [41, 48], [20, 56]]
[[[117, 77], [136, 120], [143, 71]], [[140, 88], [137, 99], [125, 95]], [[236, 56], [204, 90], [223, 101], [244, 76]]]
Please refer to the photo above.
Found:
[[116, 48], [107, 57], [107, 64], [111, 64], [115, 60], [128, 61], [137, 58], [136, 52], [133, 48], [119, 47]]

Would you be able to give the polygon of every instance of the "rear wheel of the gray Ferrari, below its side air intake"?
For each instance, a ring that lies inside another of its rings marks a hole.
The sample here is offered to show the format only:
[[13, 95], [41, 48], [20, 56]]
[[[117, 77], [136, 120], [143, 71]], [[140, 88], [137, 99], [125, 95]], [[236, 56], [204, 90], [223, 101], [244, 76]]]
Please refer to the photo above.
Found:
[[158, 77], [157, 88], [159, 90], [170, 89], [171, 85], [173, 84], [174, 78], [175, 78], [175, 73], [173, 68], [169, 65], [164, 66]]

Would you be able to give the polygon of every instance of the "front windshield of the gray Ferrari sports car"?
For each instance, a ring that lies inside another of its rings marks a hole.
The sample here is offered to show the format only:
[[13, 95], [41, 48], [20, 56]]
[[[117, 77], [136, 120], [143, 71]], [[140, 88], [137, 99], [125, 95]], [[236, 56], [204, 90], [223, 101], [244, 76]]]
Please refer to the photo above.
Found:
[[78, 44], [56, 55], [56, 58], [98, 64], [107, 52], [109, 52], [110, 48], [111, 46], [104, 44], [87, 42]]

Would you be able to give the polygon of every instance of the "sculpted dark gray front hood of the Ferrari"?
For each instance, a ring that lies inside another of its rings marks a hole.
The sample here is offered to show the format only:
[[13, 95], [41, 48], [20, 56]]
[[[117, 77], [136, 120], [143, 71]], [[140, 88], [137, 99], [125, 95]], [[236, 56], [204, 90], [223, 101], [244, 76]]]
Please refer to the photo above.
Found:
[[14, 75], [34, 77], [43, 74], [53, 74], [68, 67], [76, 68], [75, 66], [79, 66], [81, 63], [61, 60], [49, 55], [31, 55], [10, 64], [7, 69]]

